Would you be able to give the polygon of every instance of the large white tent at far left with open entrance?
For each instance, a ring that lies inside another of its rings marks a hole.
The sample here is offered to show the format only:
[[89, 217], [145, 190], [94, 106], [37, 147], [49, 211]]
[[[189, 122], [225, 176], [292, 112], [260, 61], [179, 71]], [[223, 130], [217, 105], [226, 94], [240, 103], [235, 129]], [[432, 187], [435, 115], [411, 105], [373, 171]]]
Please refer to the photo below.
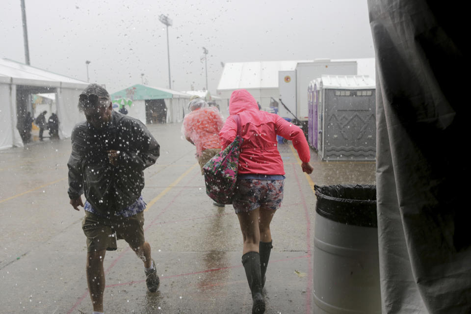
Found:
[[[0, 149], [23, 146], [18, 117], [31, 106], [31, 95], [55, 93], [59, 136], [70, 137], [84, 120], [78, 111], [78, 95], [88, 83], [8, 59], [0, 59]], [[49, 113], [50, 114], [50, 113]]]

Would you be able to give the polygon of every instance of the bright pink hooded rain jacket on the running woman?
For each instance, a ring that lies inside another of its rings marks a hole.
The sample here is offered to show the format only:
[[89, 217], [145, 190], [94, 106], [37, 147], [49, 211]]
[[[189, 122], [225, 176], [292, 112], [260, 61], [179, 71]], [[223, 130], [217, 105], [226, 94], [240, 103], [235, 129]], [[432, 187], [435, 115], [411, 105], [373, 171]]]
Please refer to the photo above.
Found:
[[226, 123], [219, 131], [222, 149], [231, 144], [237, 134], [234, 115], [240, 117], [241, 136], [239, 174], [284, 175], [283, 160], [278, 152], [276, 135], [293, 142], [299, 158], [309, 162], [311, 154], [303, 131], [277, 114], [259, 110], [257, 101], [245, 89], [235, 90], [229, 101]]

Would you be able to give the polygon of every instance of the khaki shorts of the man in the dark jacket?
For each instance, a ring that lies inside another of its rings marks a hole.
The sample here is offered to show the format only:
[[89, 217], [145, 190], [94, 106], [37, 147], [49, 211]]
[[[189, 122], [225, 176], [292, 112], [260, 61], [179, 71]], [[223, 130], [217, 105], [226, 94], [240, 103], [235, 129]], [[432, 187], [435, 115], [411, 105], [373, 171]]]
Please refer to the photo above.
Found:
[[100, 217], [85, 211], [82, 222], [83, 233], [87, 236], [89, 253], [117, 249], [116, 240], [124, 239], [131, 248], [144, 244], [144, 211], [131, 217], [116, 216], [113, 219]]

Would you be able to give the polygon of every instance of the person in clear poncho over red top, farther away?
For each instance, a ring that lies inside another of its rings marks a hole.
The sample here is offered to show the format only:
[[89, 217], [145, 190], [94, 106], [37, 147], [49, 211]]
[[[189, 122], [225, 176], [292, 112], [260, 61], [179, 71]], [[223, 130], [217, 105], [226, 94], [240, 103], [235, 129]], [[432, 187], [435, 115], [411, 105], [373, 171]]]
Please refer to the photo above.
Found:
[[[218, 134], [224, 120], [217, 107], [208, 107], [199, 97], [189, 102], [188, 109], [191, 112], [183, 119], [182, 133], [188, 142], [196, 146], [196, 158], [201, 174], [204, 174], [204, 165], [221, 151]], [[213, 204], [224, 207], [224, 204]]]

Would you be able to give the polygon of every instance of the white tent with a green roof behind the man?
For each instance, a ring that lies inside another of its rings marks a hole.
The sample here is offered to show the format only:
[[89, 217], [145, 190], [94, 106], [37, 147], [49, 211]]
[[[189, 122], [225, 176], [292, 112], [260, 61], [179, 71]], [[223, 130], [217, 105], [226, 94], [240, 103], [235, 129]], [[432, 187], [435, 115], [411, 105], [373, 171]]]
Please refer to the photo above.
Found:
[[142, 84], [111, 94], [115, 110], [126, 104], [128, 115], [143, 123], [182, 122], [190, 97], [183, 92]]

